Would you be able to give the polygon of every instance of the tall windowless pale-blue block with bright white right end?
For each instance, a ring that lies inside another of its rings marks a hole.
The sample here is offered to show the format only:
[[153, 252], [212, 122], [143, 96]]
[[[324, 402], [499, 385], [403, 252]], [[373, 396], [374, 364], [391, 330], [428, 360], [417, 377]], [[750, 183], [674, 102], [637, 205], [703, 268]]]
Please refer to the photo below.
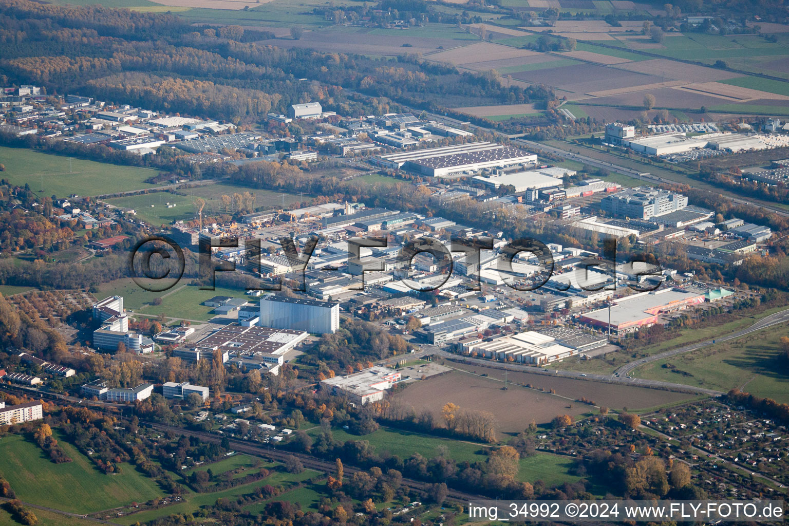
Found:
[[312, 334], [334, 333], [340, 328], [340, 304], [269, 294], [260, 299], [260, 325]]

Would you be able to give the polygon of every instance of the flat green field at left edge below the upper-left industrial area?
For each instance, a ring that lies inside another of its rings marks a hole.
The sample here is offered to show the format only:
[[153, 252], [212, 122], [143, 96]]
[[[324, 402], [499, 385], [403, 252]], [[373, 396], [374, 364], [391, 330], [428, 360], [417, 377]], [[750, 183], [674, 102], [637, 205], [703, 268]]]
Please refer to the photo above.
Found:
[[12, 185], [30, 185], [33, 192], [47, 197], [65, 197], [73, 193], [100, 196], [155, 188], [156, 185], [144, 181], [158, 173], [136, 166], [118, 166], [5, 146], [0, 146], [0, 163], [6, 166], [0, 178]]

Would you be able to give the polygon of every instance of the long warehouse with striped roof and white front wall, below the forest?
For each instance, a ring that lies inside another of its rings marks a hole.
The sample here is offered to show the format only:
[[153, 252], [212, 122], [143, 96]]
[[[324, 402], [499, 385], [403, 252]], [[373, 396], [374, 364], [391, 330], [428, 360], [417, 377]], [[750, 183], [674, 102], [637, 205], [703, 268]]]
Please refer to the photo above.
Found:
[[409, 170], [430, 177], [451, 177], [484, 168], [537, 162], [537, 155], [516, 147], [480, 141], [426, 150], [380, 155], [375, 162], [387, 168]]

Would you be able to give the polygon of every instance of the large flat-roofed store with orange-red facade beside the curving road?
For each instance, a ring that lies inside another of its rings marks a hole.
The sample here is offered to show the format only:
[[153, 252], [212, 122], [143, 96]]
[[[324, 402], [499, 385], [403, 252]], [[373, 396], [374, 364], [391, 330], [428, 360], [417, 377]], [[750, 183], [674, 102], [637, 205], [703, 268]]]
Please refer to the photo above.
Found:
[[615, 300], [611, 308], [581, 315], [581, 323], [615, 333], [627, 333], [657, 323], [661, 314], [704, 303], [704, 295], [683, 289], [662, 289]]

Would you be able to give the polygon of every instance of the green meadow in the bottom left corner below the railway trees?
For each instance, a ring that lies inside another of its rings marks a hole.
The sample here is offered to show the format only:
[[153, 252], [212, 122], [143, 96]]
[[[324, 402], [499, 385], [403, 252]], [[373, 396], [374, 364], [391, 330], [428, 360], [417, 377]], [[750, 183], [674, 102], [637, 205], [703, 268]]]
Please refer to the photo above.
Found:
[[155, 481], [133, 465], [122, 464], [122, 472], [104, 475], [59, 436], [58, 445], [72, 462], [52, 463], [39, 446], [20, 435], [0, 438], [0, 476], [9, 481], [17, 498], [72, 513], [95, 513], [162, 494]]

